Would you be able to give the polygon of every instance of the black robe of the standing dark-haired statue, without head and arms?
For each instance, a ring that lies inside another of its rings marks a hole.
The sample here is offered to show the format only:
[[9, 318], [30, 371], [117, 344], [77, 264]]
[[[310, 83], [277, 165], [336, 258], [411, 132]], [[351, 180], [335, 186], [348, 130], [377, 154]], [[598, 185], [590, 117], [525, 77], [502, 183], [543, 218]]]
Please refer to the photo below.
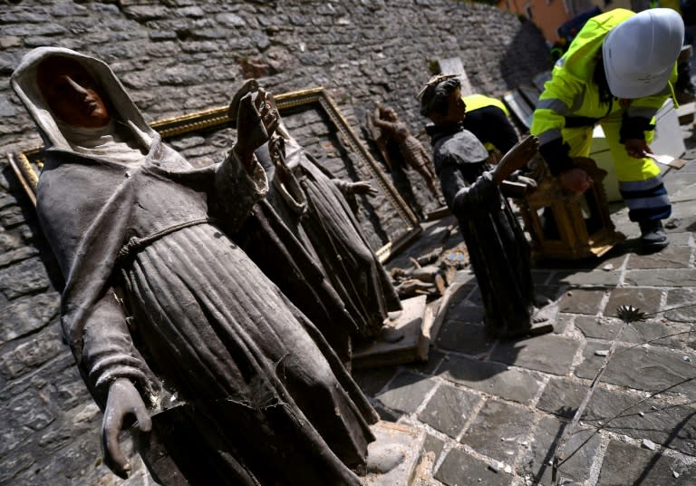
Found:
[[[534, 285], [527, 238], [487, 170], [488, 151], [461, 124], [429, 124], [442, 194], [459, 221], [493, 335], [519, 335], [531, 326]], [[478, 181], [477, 181], [478, 180]]]

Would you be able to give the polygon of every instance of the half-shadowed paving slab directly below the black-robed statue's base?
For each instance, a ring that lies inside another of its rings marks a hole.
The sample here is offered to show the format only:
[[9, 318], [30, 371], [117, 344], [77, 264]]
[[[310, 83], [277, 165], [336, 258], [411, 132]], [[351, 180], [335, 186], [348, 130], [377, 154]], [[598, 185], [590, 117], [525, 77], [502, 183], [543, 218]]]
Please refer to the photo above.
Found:
[[546, 373], [566, 374], [579, 347], [580, 342], [574, 339], [553, 334], [537, 335], [499, 343], [490, 359]]

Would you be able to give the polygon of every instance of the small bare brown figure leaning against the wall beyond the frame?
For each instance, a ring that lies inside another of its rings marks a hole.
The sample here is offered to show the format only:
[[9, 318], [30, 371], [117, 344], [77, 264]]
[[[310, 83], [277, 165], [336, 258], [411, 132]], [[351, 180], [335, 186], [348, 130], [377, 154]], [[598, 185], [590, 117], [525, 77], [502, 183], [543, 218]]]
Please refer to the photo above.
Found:
[[374, 113], [370, 119], [372, 124], [381, 129], [381, 136], [375, 138], [375, 142], [382, 151], [382, 156], [391, 170], [393, 162], [386, 150], [387, 141], [390, 139], [396, 141], [401, 153], [401, 159], [406, 167], [410, 167], [420, 174], [420, 177], [425, 181], [432, 196], [441, 202], [440, 192], [435, 183], [435, 172], [430, 166], [430, 155], [423, 147], [420, 141], [411, 135], [406, 123], [399, 120], [396, 112], [389, 106], [383, 105], [381, 102], [375, 103]]

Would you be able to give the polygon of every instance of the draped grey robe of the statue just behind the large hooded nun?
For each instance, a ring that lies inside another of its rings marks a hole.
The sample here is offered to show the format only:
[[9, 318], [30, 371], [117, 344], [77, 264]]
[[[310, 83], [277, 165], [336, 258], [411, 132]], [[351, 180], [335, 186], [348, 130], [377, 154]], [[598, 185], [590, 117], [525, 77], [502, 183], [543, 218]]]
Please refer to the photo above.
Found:
[[343, 300], [357, 326], [352, 334], [374, 337], [388, 313], [401, 309], [401, 301], [348, 204], [353, 183], [324, 172], [282, 122], [278, 133], [271, 200]]

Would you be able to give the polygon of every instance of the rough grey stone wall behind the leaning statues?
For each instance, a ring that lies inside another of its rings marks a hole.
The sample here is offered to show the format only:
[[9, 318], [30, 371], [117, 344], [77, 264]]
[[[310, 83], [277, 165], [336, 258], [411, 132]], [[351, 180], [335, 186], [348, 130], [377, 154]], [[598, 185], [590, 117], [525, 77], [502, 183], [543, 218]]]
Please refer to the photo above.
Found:
[[101, 413], [61, 339], [60, 273], [5, 157], [40, 144], [7, 83], [40, 45], [110, 63], [150, 121], [224, 105], [253, 76], [274, 92], [324, 86], [361, 134], [378, 100], [419, 131], [414, 94], [438, 58], [459, 56], [493, 95], [549, 67], [534, 26], [453, 0], [3, 2], [0, 484], [120, 482], [101, 464]]

